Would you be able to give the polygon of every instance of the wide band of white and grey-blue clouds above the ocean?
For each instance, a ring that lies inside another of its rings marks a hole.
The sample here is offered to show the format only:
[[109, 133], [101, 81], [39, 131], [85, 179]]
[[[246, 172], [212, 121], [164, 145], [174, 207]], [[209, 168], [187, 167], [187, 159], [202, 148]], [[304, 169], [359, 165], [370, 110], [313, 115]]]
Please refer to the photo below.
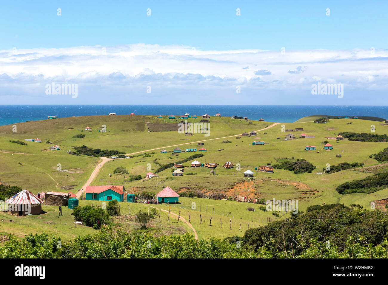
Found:
[[[386, 105], [388, 50], [147, 45], [0, 50], [1, 104]], [[343, 97], [312, 85], [343, 84]], [[78, 96], [47, 95], [76, 84]]]

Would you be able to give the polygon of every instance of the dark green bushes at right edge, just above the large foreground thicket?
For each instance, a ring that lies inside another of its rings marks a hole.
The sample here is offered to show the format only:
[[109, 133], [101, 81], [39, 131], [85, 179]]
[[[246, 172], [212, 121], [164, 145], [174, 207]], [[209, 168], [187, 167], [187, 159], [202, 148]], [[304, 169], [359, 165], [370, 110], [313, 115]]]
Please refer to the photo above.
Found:
[[388, 187], [388, 172], [374, 174], [359, 180], [342, 183], [336, 187], [340, 194], [373, 193]]

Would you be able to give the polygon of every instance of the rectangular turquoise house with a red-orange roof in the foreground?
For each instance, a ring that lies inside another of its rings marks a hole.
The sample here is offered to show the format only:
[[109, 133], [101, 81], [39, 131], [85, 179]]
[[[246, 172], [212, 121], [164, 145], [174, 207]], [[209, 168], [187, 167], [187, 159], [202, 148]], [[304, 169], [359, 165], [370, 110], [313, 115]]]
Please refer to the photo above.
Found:
[[86, 200], [111, 201], [124, 200], [123, 185], [87, 186], [85, 190]]

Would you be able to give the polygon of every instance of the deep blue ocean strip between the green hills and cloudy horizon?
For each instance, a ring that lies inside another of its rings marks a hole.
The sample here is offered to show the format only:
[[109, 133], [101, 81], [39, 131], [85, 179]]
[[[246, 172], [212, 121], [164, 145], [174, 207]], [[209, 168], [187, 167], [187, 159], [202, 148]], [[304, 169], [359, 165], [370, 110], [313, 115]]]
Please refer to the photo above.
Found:
[[0, 125], [45, 120], [47, 116], [73, 117], [108, 115], [191, 115], [217, 113], [268, 122], [292, 123], [310, 115], [374, 116], [388, 119], [388, 106], [317, 105], [0, 105]]

